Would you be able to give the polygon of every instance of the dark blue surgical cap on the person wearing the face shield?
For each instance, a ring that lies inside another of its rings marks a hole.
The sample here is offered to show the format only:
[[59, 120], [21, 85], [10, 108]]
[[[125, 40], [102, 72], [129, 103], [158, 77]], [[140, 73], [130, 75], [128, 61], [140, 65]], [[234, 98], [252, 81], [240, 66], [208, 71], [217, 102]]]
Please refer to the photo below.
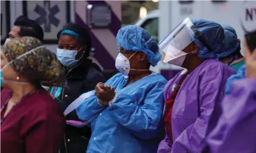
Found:
[[205, 39], [205, 42], [209, 44], [212, 51], [198, 39], [194, 39], [195, 44], [199, 46], [199, 51], [197, 55], [201, 59], [211, 59], [216, 58], [217, 54], [222, 48], [222, 41], [224, 40], [224, 29], [220, 24], [213, 21], [207, 20], [192, 20], [192, 23], [197, 28], [200, 35]]

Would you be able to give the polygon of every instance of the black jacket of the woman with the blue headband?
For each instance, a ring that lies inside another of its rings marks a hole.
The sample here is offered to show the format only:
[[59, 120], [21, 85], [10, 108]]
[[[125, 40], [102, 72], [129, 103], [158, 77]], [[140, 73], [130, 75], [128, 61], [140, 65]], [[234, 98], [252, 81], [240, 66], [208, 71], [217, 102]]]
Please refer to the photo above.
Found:
[[[96, 63], [86, 59], [82, 64], [71, 69], [66, 74], [67, 87], [62, 89], [59, 98], [56, 99], [61, 106], [63, 112], [75, 99], [82, 93], [94, 90], [99, 82], [105, 82], [104, 74]], [[66, 116], [67, 120], [81, 121], [75, 110]], [[73, 127], [66, 125], [66, 143], [63, 142], [61, 153], [85, 153], [89, 138], [91, 137], [91, 128]]]

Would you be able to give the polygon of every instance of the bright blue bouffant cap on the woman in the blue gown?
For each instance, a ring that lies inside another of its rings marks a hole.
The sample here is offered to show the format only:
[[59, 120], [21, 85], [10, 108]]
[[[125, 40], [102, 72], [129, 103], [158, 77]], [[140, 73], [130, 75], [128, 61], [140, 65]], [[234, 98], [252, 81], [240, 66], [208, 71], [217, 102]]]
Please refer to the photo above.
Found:
[[116, 35], [118, 46], [127, 51], [140, 51], [146, 55], [146, 59], [152, 66], [156, 66], [162, 59], [158, 51], [157, 41], [151, 38], [149, 32], [142, 27], [129, 25], [118, 30]]

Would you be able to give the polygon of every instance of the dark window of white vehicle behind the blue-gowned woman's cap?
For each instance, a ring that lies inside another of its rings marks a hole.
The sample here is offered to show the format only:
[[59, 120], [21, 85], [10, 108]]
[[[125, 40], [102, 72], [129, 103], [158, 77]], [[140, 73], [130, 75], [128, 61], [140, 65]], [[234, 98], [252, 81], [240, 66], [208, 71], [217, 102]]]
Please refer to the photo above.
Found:
[[158, 18], [151, 18], [145, 21], [141, 25], [144, 29], [148, 30], [151, 34], [151, 37], [155, 38], [158, 41]]

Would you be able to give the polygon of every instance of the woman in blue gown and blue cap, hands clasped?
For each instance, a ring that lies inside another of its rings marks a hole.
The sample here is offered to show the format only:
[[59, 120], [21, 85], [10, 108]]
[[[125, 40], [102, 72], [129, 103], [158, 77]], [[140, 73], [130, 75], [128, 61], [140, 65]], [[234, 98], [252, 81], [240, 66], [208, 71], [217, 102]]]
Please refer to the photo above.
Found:
[[77, 114], [90, 121], [87, 152], [155, 153], [162, 130], [163, 76], [149, 71], [161, 59], [157, 41], [145, 29], [126, 26], [116, 35], [120, 73], [96, 85]]

